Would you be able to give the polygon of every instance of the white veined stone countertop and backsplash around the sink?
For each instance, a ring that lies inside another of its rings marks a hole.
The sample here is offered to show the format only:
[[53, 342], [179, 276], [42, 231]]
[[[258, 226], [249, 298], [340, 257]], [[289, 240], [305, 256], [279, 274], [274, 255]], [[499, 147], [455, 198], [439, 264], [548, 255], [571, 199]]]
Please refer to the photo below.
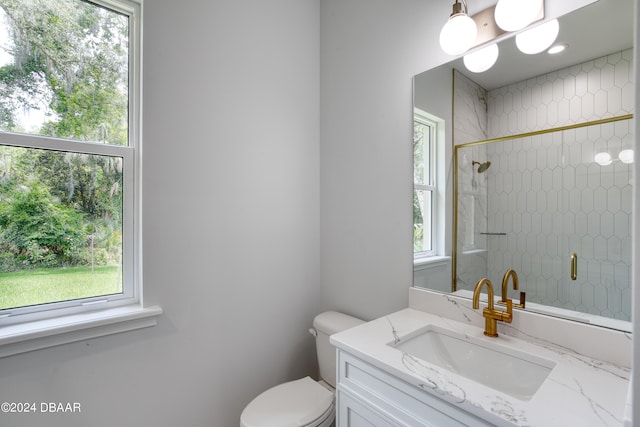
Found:
[[[500, 336], [489, 338], [483, 334], [482, 306], [473, 310], [470, 301], [467, 307], [467, 300], [446, 294], [433, 293], [428, 298], [429, 301], [414, 305], [435, 304], [439, 309], [434, 311], [441, 313], [408, 308], [335, 334], [331, 342], [340, 350], [494, 425], [622, 426], [630, 378], [630, 368], [625, 365], [631, 352], [629, 334], [546, 316], [531, 320], [530, 316], [539, 315], [514, 310], [514, 322], [511, 325], [498, 322]], [[450, 310], [450, 315], [443, 315], [443, 310]], [[522, 318], [516, 321], [518, 317]], [[524, 326], [527, 320], [531, 325]], [[529, 400], [520, 400], [447, 369], [416, 361], [389, 345], [428, 325], [551, 360], [555, 366]], [[625, 352], [629, 354], [625, 356]], [[612, 357], [610, 360], [594, 357], [598, 354]]]

